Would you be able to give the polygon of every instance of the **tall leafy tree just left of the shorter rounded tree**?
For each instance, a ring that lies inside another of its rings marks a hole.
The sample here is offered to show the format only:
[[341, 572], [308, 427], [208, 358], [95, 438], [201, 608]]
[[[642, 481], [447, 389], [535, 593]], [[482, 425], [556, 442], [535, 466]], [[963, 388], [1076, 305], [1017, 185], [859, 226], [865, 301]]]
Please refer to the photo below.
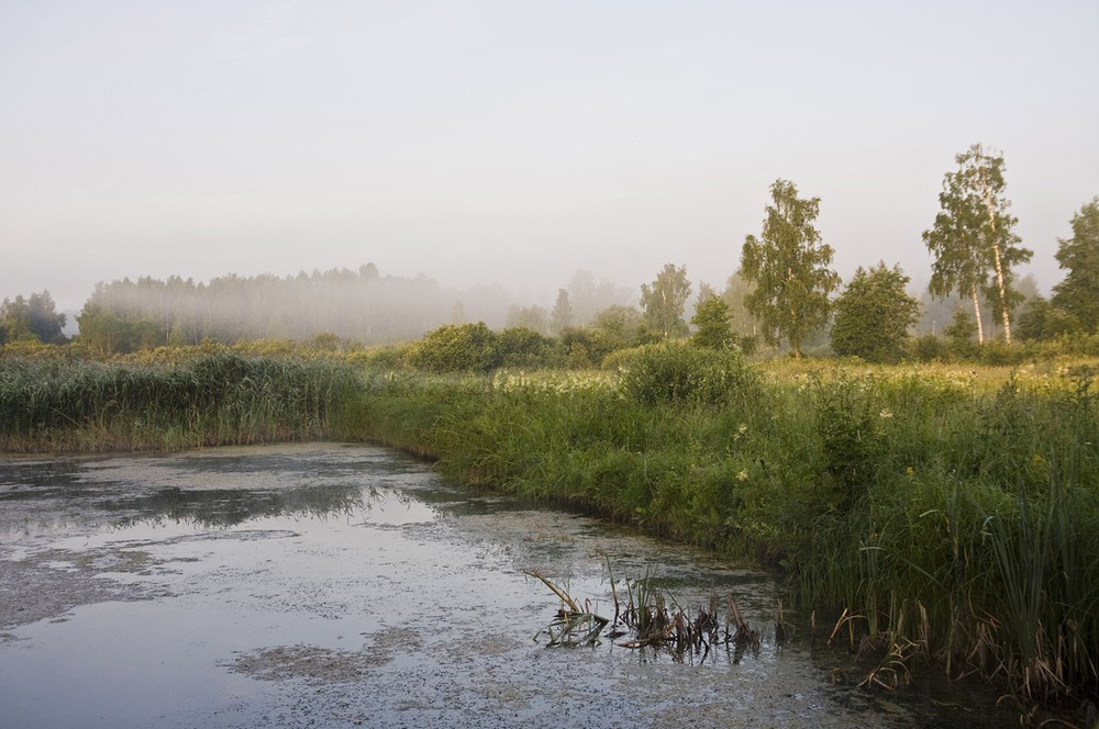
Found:
[[800, 357], [806, 337], [828, 321], [829, 295], [840, 277], [830, 268], [832, 247], [813, 226], [820, 198], [798, 198], [786, 180], [776, 180], [770, 193], [762, 236], [748, 235], [741, 250], [741, 273], [755, 287], [744, 304], [769, 344], [784, 337]]

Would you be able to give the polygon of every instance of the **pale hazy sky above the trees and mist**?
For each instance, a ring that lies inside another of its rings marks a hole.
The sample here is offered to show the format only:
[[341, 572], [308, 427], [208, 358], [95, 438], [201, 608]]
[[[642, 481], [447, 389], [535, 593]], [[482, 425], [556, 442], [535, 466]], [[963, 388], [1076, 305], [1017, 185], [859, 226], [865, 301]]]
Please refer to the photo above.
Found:
[[1003, 153], [1045, 289], [1099, 194], [1099, 2], [0, 0], [0, 299], [357, 268], [721, 287], [768, 188], [848, 279]]

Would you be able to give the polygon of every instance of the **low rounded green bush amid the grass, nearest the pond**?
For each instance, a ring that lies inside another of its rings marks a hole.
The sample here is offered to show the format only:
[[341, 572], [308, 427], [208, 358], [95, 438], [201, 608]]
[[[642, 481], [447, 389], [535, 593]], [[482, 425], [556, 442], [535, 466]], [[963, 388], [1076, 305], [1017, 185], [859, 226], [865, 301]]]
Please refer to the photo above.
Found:
[[637, 349], [621, 382], [628, 397], [648, 405], [720, 405], [750, 397], [757, 378], [736, 350], [669, 341]]

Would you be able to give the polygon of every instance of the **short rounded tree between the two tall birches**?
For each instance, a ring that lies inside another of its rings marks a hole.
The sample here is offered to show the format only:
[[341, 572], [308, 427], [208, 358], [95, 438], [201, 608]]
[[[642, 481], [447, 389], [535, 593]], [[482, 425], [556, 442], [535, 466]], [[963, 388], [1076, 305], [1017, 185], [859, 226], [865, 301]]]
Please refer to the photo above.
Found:
[[908, 277], [899, 266], [862, 266], [834, 304], [832, 349], [841, 357], [868, 362], [898, 362], [904, 356], [908, 329], [920, 303], [904, 292]]

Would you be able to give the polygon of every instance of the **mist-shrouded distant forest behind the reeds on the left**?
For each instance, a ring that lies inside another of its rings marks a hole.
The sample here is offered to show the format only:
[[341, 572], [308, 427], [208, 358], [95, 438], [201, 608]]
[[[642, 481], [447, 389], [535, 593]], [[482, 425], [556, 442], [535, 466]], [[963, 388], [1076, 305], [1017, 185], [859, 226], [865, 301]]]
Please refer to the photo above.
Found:
[[425, 277], [381, 276], [368, 263], [276, 276], [223, 276], [209, 283], [143, 277], [99, 283], [77, 321], [100, 352], [203, 340], [306, 339], [328, 333], [364, 344], [406, 341], [456, 315], [503, 324], [502, 289], [442, 289]]

